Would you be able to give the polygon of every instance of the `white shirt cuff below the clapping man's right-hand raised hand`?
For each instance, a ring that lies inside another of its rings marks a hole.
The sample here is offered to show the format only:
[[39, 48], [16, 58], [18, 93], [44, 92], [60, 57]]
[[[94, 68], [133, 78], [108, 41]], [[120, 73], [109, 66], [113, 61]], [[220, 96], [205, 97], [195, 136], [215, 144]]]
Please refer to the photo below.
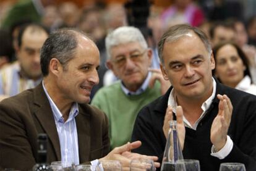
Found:
[[224, 159], [233, 149], [233, 141], [231, 138], [227, 135], [227, 141], [226, 144], [220, 151], [215, 152], [214, 146], [211, 147], [211, 156], [218, 157], [219, 159]]

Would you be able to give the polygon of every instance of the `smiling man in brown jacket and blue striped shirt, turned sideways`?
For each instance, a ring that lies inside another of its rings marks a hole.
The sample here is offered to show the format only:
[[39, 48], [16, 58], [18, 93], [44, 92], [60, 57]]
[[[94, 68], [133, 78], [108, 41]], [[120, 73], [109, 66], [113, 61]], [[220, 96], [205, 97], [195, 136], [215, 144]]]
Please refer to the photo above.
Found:
[[58, 30], [43, 44], [40, 58], [43, 81], [0, 102], [2, 168], [32, 169], [38, 133], [48, 135], [48, 163], [119, 160], [125, 169], [143, 157], [130, 152], [140, 141], [109, 152], [108, 119], [87, 104], [99, 81], [100, 52], [92, 40], [80, 31]]

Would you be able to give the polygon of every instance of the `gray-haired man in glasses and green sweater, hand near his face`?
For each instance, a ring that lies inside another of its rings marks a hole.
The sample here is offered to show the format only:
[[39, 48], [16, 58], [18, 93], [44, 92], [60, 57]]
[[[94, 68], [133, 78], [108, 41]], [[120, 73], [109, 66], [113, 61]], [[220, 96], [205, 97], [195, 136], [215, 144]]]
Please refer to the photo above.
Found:
[[101, 88], [92, 104], [108, 115], [113, 149], [130, 141], [137, 113], [165, 93], [169, 83], [160, 70], [149, 69], [153, 52], [139, 29], [119, 27], [109, 33], [106, 51], [106, 65], [119, 81]]

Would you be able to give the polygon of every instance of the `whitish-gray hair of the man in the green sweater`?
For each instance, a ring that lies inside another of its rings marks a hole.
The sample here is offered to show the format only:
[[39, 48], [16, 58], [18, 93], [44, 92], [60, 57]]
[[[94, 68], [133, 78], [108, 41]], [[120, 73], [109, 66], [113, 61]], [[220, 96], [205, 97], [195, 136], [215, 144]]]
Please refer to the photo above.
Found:
[[142, 35], [142, 32], [138, 28], [128, 26], [116, 28], [116, 30], [112, 31], [108, 34], [108, 36], [106, 36], [105, 44], [108, 59], [111, 58], [110, 51], [113, 46], [133, 42], [140, 43], [142, 48], [148, 48], [148, 44]]

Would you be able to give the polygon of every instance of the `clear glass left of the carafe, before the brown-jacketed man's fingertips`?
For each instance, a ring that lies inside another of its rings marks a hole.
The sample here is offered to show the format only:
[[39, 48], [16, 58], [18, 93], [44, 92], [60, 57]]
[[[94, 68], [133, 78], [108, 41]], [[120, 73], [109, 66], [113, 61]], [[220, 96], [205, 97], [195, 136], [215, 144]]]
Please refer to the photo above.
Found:
[[130, 171], [155, 171], [154, 162], [147, 158], [138, 158], [130, 161]]

